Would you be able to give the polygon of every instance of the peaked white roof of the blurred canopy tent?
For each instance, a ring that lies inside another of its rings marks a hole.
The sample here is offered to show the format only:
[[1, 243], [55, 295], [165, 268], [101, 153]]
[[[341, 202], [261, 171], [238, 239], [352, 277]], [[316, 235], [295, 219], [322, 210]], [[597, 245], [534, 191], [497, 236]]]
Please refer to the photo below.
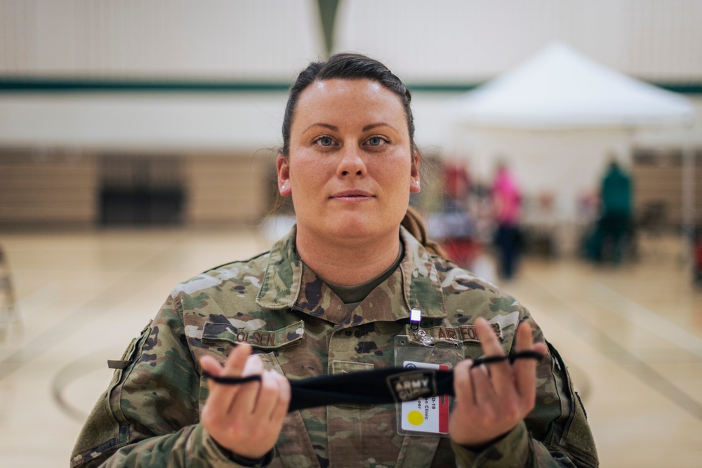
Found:
[[684, 126], [685, 98], [608, 69], [561, 43], [456, 99], [457, 116], [479, 128], [566, 130]]

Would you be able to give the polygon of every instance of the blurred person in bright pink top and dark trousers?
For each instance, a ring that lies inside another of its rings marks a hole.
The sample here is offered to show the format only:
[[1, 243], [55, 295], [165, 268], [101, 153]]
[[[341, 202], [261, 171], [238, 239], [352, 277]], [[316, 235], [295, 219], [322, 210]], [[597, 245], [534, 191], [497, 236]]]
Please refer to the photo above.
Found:
[[505, 162], [498, 163], [491, 195], [497, 225], [495, 242], [498, 248], [498, 271], [503, 279], [509, 280], [515, 276], [519, 258], [522, 194]]

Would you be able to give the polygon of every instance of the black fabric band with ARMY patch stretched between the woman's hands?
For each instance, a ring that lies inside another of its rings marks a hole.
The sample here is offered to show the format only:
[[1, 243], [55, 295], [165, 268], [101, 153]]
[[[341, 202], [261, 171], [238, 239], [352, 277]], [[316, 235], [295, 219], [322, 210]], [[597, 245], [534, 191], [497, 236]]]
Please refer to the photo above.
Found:
[[[510, 356], [487, 356], [475, 359], [472, 367], [516, 359], [541, 360], [543, 355], [535, 351], [523, 351]], [[239, 385], [255, 380], [260, 381], [260, 375], [246, 377], [216, 377], [204, 372], [203, 375], [218, 384]], [[420, 380], [429, 379], [430, 388], [417, 394], [411, 383], [406, 384], [408, 392], [398, 392], [397, 385], [402, 387], [404, 380], [411, 380], [416, 375]], [[453, 396], [453, 370], [405, 369], [390, 367], [384, 369], [362, 370], [359, 372], [317, 375], [307, 379], [290, 380], [291, 399], [288, 412], [315, 406], [338, 405], [342, 403], [383, 404], [410, 401], [418, 396]]]

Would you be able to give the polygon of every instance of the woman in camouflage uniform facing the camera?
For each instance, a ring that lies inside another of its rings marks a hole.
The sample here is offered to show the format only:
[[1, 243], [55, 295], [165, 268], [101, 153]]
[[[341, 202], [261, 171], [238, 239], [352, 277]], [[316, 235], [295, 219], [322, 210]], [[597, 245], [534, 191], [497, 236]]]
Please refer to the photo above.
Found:
[[[530, 314], [438, 255], [409, 210], [420, 190], [409, 103], [397, 76], [362, 55], [300, 73], [277, 156], [296, 227], [173, 290], [112, 361], [72, 467], [597, 466], [567, 370]], [[437, 346], [461, 345], [450, 437], [398, 434], [391, 404], [287, 412], [291, 381], [395, 366], [411, 309]], [[544, 359], [471, 366], [524, 351]]]

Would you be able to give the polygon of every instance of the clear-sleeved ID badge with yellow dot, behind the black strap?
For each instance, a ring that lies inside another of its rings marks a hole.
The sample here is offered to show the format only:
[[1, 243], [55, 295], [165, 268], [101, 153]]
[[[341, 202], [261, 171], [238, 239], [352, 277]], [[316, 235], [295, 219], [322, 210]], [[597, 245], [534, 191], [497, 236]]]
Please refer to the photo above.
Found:
[[[422, 340], [419, 335], [395, 337], [395, 366], [405, 369], [451, 370], [463, 360], [463, 342]], [[448, 436], [451, 397], [420, 396], [397, 403], [397, 434], [402, 436]]]

